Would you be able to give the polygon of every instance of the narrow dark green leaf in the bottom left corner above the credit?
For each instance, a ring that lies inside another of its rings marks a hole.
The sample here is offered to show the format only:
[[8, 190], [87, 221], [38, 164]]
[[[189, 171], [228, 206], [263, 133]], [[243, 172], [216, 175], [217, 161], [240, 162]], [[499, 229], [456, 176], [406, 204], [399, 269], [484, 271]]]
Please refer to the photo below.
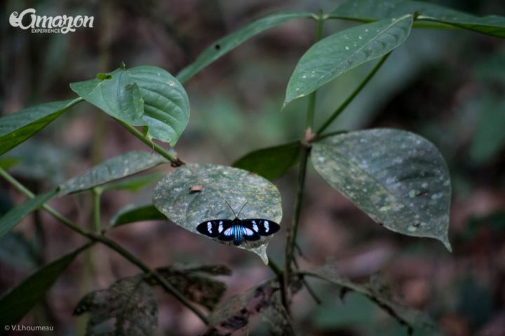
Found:
[[70, 265], [72, 260], [88, 248], [86, 244], [72, 253], [66, 254], [53, 262], [44, 265], [22, 281], [18, 286], [0, 298], [0, 325], [18, 323], [32, 307], [43, 299], [46, 291], [53, 286], [56, 279]]

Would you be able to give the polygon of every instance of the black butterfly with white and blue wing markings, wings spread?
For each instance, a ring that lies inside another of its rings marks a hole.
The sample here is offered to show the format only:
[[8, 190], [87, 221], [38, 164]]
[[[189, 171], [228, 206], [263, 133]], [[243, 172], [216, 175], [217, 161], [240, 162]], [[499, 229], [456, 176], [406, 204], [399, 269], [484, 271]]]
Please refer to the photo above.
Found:
[[238, 214], [235, 214], [231, 206], [229, 207], [235, 215], [234, 219], [213, 219], [205, 221], [198, 224], [196, 230], [202, 235], [217, 238], [221, 241], [233, 241], [235, 246], [239, 246], [243, 241], [255, 241], [260, 240], [262, 236], [273, 235], [281, 228], [281, 226], [274, 221], [269, 221], [267, 219], [238, 218], [245, 204], [240, 211], [238, 211]]

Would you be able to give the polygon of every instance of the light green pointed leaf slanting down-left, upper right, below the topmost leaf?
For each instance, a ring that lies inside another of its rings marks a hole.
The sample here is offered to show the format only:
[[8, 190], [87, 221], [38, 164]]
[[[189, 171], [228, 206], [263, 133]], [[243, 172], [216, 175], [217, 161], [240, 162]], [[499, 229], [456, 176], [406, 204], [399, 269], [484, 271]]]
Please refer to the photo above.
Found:
[[382, 20], [339, 31], [305, 52], [286, 89], [284, 106], [307, 96], [342, 73], [386, 55], [405, 41], [412, 15]]

